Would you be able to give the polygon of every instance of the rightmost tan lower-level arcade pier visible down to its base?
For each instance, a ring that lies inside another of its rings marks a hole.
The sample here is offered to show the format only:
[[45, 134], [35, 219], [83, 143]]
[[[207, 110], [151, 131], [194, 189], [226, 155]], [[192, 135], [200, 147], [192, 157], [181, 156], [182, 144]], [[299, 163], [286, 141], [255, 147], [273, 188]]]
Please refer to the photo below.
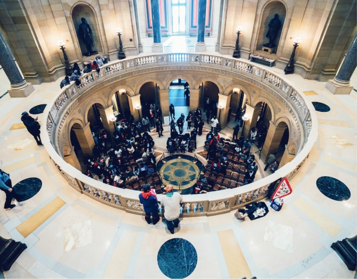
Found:
[[265, 162], [266, 158], [270, 153], [277, 151], [282, 135], [288, 126], [275, 126], [274, 123], [270, 121], [267, 137], [265, 139], [263, 149], [262, 149], [262, 160]]

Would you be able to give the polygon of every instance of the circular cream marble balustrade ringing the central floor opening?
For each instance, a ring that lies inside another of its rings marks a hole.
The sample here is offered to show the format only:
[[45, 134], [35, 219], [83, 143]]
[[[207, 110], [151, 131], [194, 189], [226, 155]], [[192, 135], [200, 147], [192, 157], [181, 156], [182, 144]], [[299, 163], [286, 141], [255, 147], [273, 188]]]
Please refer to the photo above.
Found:
[[[135, 58], [127, 58], [104, 64], [99, 73], [92, 71], [80, 77], [80, 85], [71, 84], [53, 100], [52, 106], [47, 106], [44, 115], [47, 117], [46, 126], [41, 128], [49, 137], [43, 137], [44, 146], [58, 170], [70, 185], [83, 193], [96, 198], [102, 203], [111, 205], [126, 211], [142, 214], [142, 207], [138, 202], [138, 192], [134, 190], [115, 188], [99, 181], [91, 179], [79, 170], [67, 164], [57, 153], [56, 143], [59, 140], [60, 129], [66, 121], [66, 115], [76, 105], [76, 99], [88, 89], [100, 84], [104, 79], [120, 76], [123, 73], [146, 67], [155, 67], [157, 70], [164, 65], [177, 65], [179, 67], [204, 66], [207, 68], [224, 70], [227, 74], [254, 79], [262, 86], [269, 89], [269, 93], [279, 97], [286, 105], [290, 106], [292, 113], [298, 118], [296, 121], [303, 125], [300, 130], [305, 135], [304, 146], [296, 154], [295, 158], [285, 166], [278, 169], [261, 180], [234, 189], [226, 189], [216, 192], [208, 192], [197, 195], [185, 195], [185, 207], [188, 209], [184, 215], [192, 214], [213, 215], [226, 212], [246, 203], [264, 198], [270, 183], [281, 177], [292, 178], [304, 164], [317, 138], [317, 118], [313, 107], [306, 102], [305, 97], [299, 94], [299, 90], [293, 88], [282, 77], [270, 72], [266, 67], [258, 67], [243, 59], [234, 59], [220, 55], [207, 55], [197, 53], [172, 53], [143, 55]], [[312, 129], [313, 128], [313, 129]], [[56, 134], [54, 134], [54, 131]], [[161, 200], [161, 195], [158, 195]], [[200, 205], [202, 211], [193, 213], [196, 205]], [[188, 213], [189, 212], [189, 213]]]

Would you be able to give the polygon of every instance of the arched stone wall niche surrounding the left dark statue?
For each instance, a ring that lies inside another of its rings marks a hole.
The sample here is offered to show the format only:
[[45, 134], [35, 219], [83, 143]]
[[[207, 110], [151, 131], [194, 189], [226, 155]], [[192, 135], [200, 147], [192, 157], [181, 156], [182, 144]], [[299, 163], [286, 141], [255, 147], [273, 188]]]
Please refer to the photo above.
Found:
[[[98, 3], [95, 6], [98, 5]], [[103, 41], [102, 41], [102, 35], [100, 32], [100, 26], [99, 26], [99, 21], [98, 19], [101, 19], [101, 16], [97, 14], [95, 7], [93, 4], [88, 4], [87, 2], [77, 2], [74, 4], [69, 11], [71, 21], [72, 23], [72, 28], [69, 28], [70, 30], [73, 30], [72, 36], [73, 36], [73, 42], [77, 42], [78, 49], [81, 51], [80, 55], [83, 57], [85, 56], [84, 51], [87, 50], [85, 44], [82, 42], [81, 38], [79, 37], [79, 26], [82, 23], [81, 18], [85, 18], [86, 22], [89, 24], [91, 30], [92, 30], [92, 37], [93, 37], [93, 54], [95, 52], [97, 53], [103, 53]], [[90, 54], [91, 55], [91, 54]]]

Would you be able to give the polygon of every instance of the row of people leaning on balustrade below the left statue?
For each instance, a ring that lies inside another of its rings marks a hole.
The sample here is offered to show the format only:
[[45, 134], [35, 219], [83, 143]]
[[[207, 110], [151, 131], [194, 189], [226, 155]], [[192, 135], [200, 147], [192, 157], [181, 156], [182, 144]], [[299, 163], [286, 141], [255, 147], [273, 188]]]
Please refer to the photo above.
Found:
[[91, 62], [87, 62], [85, 64], [85, 67], [83, 71], [80, 69], [79, 65], [77, 62], [73, 64], [72, 68], [72, 74], [70, 76], [66, 75], [62, 81], [59, 84], [60, 88], [63, 88], [66, 85], [70, 85], [70, 82], [75, 82], [77, 86], [81, 84], [79, 78], [84, 74], [84, 73], [89, 73], [93, 70], [96, 70], [97, 72], [100, 71], [101, 66], [103, 66], [105, 63], [105, 59], [103, 57], [100, 57], [100, 55], [97, 55], [95, 59]]

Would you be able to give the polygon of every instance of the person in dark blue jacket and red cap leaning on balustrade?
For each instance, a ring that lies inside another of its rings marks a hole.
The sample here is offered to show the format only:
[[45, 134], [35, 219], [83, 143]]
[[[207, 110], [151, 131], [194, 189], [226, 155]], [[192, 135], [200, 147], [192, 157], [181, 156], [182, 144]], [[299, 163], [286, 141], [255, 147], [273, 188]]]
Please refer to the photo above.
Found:
[[144, 191], [139, 194], [140, 204], [144, 206], [145, 211], [145, 221], [151, 224], [151, 215], [153, 216], [153, 224], [155, 225], [160, 221], [158, 212], [157, 197], [151, 191], [150, 184], [145, 184], [143, 187]]

